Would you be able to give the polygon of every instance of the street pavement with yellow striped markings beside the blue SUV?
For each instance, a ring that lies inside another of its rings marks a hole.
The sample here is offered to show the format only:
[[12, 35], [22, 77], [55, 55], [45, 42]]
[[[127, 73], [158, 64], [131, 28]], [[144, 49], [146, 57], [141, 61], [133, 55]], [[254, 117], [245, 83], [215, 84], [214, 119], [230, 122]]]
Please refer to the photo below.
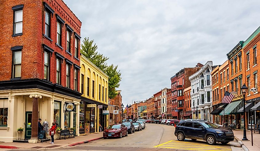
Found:
[[[174, 136], [174, 126], [161, 124], [146, 124], [146, 129], [129, 134], [123, 138], [100, 139], [94, 142], [66, 147], [62, 150], [90, 150], [90, 151], [164, 151], [164, 150], [190, 150], [190, 151], [231, 151], [229, 144], [208, 145], [205, 141], [183, 142]], [[234, 146], [233, 146], [234, 147]], [[241, 148], [237, 148], [241, 150]]]

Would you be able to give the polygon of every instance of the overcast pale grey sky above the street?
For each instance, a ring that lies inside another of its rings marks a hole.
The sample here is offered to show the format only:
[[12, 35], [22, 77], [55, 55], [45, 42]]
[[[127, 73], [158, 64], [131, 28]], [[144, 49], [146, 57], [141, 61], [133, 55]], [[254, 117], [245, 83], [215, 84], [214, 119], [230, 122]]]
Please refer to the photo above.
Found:
[[124, 105], [170, 88], [170, 77], [226, 54], [259, 27], [259, 1], [64, 0], [98, 52], [122, 73]]

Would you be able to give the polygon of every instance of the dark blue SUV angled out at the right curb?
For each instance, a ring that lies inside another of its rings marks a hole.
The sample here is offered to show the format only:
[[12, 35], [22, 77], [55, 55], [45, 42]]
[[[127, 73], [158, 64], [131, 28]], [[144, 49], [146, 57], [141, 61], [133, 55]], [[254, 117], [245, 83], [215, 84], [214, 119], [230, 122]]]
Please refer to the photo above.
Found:
[[193, 141], [202, 139], [209, 145], [215, 145], [216, 142], [227, 144], [234, 141], [234, 133], [224, 127], [220, 127], [208, 121], [184, 121], [179, 123], [174, 135], [179, 141], [190, 138]]

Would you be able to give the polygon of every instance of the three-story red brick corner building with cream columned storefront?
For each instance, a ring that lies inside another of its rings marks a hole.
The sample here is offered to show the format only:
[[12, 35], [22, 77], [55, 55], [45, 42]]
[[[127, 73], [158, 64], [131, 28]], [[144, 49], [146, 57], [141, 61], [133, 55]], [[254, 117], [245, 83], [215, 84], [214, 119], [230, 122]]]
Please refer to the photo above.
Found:
[[6, 112], [7, 128], [0, 132], [6, 138], [0, 141], [12, 142], [23, 123], [32, 126], [25, 127], [22, 138], [37, 138], [38, 117], [63, 129], [77, 126], [78, 115], [62, 107], [71, 102], [74, 113], [79, 109], [81, 21], [62, 0], [9, 0], [0, 5], [0, 104], [9, 100], [3, 108], [14, 112]]

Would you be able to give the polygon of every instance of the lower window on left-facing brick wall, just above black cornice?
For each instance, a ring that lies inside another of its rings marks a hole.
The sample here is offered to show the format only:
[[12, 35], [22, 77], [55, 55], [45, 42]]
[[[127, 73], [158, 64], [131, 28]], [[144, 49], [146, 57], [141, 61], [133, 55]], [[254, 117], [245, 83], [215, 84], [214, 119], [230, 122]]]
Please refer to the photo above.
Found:
[[22, 51], [14, 51], [13, 78], [21, 77]]

